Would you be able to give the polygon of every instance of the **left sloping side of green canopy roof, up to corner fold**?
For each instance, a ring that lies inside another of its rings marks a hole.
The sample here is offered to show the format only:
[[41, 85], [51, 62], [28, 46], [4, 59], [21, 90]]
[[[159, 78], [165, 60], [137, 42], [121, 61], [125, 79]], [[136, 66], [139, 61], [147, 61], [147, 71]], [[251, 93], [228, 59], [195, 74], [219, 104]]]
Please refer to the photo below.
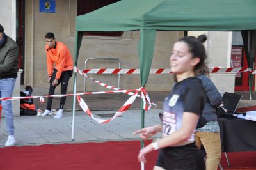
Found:
[[131, 31], [143, 27], [143, 15], [164, 0], [123, 0], [76, 17], [76, 31]]

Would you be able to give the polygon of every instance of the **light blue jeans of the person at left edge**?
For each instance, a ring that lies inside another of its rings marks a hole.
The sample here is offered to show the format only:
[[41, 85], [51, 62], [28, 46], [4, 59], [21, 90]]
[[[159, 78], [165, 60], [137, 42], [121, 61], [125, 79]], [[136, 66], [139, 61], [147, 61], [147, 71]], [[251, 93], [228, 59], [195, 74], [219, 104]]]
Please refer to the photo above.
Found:
[[[16, 78], [0, 79], [0, 97], [12, 97]], [[12, 100], [1, 100], [2, 112], [6, 120], [7, 133], [14, 135]]]

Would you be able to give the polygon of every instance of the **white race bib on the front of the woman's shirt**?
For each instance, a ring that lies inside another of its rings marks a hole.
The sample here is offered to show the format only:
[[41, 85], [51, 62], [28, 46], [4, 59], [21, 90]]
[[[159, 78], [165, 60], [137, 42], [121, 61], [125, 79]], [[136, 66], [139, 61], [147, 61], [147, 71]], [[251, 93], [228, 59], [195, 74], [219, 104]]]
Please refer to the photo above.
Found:
[[162, 132], [163, 135], [169, 135], [176, 130], [176, 114], [163, 112]]

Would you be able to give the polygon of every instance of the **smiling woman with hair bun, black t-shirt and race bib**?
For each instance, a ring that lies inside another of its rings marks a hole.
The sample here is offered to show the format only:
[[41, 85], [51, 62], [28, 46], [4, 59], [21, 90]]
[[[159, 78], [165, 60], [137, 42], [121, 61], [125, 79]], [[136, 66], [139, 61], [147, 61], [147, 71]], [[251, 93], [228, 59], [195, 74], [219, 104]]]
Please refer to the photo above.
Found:
[[205, 59], [201, 39], [187, 36], [174, 44], [170, 66], [177, 82], [164, 100], [164, 112], [160, 115], [162, 123], [134, 132], [142, 139], [160, 131], [163, 135], [140, 150], [139, 162], [145, 162], [147, 153], [160, 149], [154, 170], [205, 169], [204, 157], [195, 145], [196, 125], [206, 98], [202, 82], [195, 77], [195, 72], [205, 66]]

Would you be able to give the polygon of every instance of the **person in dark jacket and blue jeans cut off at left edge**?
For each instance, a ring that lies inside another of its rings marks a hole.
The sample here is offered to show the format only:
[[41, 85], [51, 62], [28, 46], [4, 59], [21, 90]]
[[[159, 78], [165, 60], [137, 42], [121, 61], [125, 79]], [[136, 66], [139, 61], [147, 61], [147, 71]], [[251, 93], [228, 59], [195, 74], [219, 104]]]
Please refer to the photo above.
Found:
[[[19, 63], [19, 50], [17, 43], [5, 35], [4, 28], [0, 24], [0, 97], [12, 97], [15, 86]], [[5, 146], [14, 146], [14, 123], [12, 100], [2, 100], [2, 111], [6, 120], [8, 139]]]

